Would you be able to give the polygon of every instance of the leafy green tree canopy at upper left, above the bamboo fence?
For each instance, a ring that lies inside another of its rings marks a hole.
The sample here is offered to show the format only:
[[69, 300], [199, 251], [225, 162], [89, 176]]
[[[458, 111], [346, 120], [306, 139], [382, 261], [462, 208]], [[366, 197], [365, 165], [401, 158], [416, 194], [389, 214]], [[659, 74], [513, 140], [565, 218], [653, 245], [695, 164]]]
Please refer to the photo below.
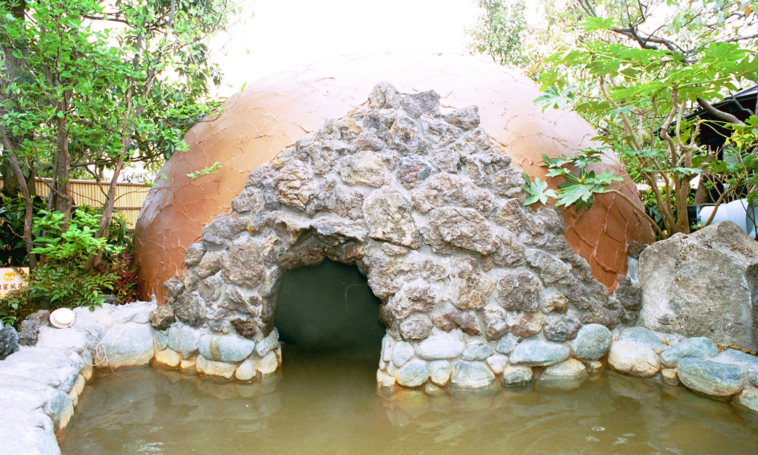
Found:
[[26, 3], [23, 18], [0, 11], [0, 39], [16, 47], [19, 71], [2, 100], [5, 134], [28, 165], [53, 161], [62, 128], [74, 166], [161, 162], [218, 106], [208, 90], [221, 73], [204, 40], [229, 2], [177, 0], [173, 13], [171, 2]]

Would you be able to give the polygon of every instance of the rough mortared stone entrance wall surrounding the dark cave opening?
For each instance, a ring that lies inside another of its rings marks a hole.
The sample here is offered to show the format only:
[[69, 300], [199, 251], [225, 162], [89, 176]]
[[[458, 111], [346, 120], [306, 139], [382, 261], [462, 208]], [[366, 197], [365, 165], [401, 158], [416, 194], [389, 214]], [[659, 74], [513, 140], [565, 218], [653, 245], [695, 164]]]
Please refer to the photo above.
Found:
[[253, 171], [187, 249], [165, 287], [178, 326], [204, 333], [199, 372], [274, 372], [281, 275], [325, 257], [357, 265], [382, 302], [387, 388], [523, 381], [568, 359], [582, 325], [619, 322], [560, 212], [522, 206], [522, 173], [476, 106], [443, 113], [437, 93], [389, 83], [369, 102]]

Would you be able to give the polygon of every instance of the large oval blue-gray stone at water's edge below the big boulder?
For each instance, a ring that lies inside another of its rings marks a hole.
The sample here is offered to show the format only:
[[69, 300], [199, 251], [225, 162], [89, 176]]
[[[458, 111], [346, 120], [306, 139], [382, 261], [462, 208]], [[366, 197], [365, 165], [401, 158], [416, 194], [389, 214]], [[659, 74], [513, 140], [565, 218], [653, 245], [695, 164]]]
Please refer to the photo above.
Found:
[[687, 388], [717, 400], [728, 400], [740, 393], [747, 379], [741, 366], [692, 357], [679, 361], [678, 376]]

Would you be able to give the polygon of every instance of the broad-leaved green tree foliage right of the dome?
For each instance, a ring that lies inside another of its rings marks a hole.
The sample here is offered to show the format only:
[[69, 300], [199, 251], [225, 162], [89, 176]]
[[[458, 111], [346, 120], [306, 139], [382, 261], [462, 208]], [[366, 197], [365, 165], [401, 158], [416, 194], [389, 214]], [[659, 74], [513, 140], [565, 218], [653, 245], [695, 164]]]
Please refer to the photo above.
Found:
[[[621, 159], [632, 180], [649, 188], [652, 208], [637, 209], [658, 221], [660, 237], [689, 232], [695, 178], [719, 173], [735, 192], [749, 178], [738, 165], [752, 162], [747, 149], [725, 165], [699, 143], [703, 121], [684, 116], [758, 80], [756, 43], [747, 39], [756, 24], [752, 7], [728, 0], [581, 0], [568, 10], [556, 14], [555, 23], [575, 31], [545, 59], [535, 103], [543, 110], [571, 107], [594, 124], [601, 133], [596, 140]], [[611, 182], [619, 179], [572, 165], [569, 171], [546, 162], [549, 176], [566, 180], [558, 185], [559, 205], [587, 206], [592, 194], [613, 190]]]

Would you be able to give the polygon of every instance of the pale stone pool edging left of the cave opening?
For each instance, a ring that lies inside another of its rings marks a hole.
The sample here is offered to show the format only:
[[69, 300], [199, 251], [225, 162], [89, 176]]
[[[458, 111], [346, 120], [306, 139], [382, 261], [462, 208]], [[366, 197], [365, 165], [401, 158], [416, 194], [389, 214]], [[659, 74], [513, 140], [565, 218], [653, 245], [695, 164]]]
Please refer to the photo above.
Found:
[[152, 364], [250, 381], [274, 375], [281, 365], [276, 329], [257, 342], [180, 323], [161, 331], [150, 322], [156, 308], [137, 302], [74, 309], [70, 328], [45, 321], [34, 346], [20, 346], [0, 361], [0, 453], [59, 455], [56, 436], [74, 417], [94, 368]]

